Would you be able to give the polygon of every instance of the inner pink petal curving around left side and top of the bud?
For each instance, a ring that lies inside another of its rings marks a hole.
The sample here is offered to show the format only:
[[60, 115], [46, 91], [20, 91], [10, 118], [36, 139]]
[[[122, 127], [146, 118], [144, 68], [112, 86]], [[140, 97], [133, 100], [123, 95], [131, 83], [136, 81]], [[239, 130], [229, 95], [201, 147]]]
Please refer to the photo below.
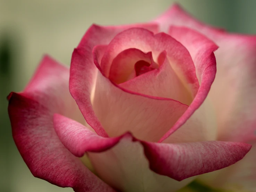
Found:
[[[144, 27], [154, 32], [157, 31], [158, 28], [158, 26], [154, 24], [138, 24], [116, 27], [100, 27], [92, 25], [78, 45], [78, 49], [83, 50], [84, 61], [82, 62], [77, 60], [76, 56], [72, 56], [69, 80], [70, 93], [76, 100], [76, 103], [87, 123], [96, 131], [97, 134], [104, 137], [108, 137], [108, 134], [97, 119], [91, 103], [91, 97], [93, 99], [93, 90], [95, 89], [95, 81], [98, 73], [98, 70], [93, 63], [92, 50], [95, 45], [109, 44], [112, 38], [122, 30], [136, 26]], [[76, 54], [77, 51], [75, 50], [73, 55]]]

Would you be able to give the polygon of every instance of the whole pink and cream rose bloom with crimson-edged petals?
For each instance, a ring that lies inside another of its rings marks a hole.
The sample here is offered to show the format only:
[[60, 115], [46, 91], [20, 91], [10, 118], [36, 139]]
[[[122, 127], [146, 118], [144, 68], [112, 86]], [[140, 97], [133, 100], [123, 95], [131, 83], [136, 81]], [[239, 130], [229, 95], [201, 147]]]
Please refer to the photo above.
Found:
[[[35, 177], [76, 192], [256, 191], [256, 37], [178, 5], [92, 25], [70, 69], [44, 56], [9, 116]], [[203, 174], [203, 175], [202, 175]]]

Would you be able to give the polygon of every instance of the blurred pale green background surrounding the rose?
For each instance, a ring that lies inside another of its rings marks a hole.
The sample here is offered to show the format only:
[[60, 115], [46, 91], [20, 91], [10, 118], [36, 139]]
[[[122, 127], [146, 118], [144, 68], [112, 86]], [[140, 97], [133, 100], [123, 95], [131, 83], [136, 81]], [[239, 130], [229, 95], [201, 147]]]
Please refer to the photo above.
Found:
[[[69, 65], [92, 24], [146, 22], [173, 0], [0, 0], [0, 192], [70, 192], [34, 178], [12, 140], [6, 96], [21, 91], [44, 53]], [[198, 19], [256, 34], [256, 0], [176, 0]], [[204, 189], [204, 191], [207, 191]]]

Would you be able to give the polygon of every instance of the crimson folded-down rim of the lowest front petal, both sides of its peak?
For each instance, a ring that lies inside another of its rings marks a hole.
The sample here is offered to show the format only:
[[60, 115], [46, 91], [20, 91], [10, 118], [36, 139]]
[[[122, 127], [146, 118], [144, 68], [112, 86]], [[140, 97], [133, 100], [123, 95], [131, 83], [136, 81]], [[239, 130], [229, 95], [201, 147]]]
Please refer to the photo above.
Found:
[[[121, 150], [112, 157], [108, 157], [110, 159], [113, 158], [113, 161], [105, 159], [104, 166], [114, 162], [114, 159], [118, 158], [119, 155], [126, 152], [129, 153], [130, 145], [133, 142], [138, 142], [143, 146], [150, 168], [155, 173], [178, 181], [230, 166], [242, 159], [251, 148], [251, 145], [246, 143], [223, 141], [194, 143], [146, 142], [136, 139], [129, 132], [116, 138], [103, 138], [93, 133], [84, 125], [59, 114], [54, 115], [54, 128], [63, 145], [78, 157], [82, 156], [85, 152], [94, 152], [95, 154], [106, 150], [111, 151], [123, 139], [128, 139], [130, 142], [127, 143], [125, 150]], [[133, 155], [138, 156], [138, 159], [140, 159], [139, 154]], [[97, 156], [97, 158], [101, 158], [101, 156]], [[130, 157], [126, 157], [122, 160], [129, 161], [129, 159]], [[94, 163], [93, 159], [92, 163]], [[137, 168], [139, 169], [139, 167]], [[118, 164], [116, 164], [116, 169], [119, 169]], [[99, 169], [99, 171], [104, 172], [102, 169]], [[108, 174], [115, 174], [115, 172]]]

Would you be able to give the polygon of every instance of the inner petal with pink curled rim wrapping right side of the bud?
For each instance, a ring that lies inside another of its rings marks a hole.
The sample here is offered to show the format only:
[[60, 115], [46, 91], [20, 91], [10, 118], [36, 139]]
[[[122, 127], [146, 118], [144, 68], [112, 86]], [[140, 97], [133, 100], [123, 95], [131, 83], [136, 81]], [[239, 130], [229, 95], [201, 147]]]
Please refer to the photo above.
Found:
[[[191, 133], [187, 135], [191, 138], [198, 138], [197, 134], [203, 134], [204, 136], [199, 138], [206, 140], [198, 141], [215, 140], [216, 120], [214, 119], [214, 111], [211, 104], [205, 99], [215, 78], [216, 60], [213, 51], [217, 49], [217, 46], [202, 34], [188, 28], [172, 27], [170, 35], [181, 42], [189, 51], [195, 64], [200, 87], [187, 111], [160, 141], [169, 137], [165, 142], [173, 142], [174, 140], [177, 142], [182, 137], [181, 130], [183, 133]], [[195, 124], [191, 124], [191, 121], [197, 121], [200, 125], [195, 127]], [[180, 132], [174, 133], [177, 129]]]

